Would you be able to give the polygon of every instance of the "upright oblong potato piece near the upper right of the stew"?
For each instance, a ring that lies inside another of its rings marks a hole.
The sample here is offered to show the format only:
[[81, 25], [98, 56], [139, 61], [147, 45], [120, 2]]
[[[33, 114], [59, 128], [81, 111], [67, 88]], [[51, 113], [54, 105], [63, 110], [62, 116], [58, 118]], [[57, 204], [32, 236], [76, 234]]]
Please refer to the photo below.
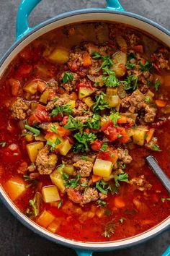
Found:
[[127, 54], [122, 51], [117, 51], [113, 55], [113, 66], [112, 69], [115, 71], [117, 77], [122, 77], [125, 75], [126, 72], [126, 63], [127, 63]]

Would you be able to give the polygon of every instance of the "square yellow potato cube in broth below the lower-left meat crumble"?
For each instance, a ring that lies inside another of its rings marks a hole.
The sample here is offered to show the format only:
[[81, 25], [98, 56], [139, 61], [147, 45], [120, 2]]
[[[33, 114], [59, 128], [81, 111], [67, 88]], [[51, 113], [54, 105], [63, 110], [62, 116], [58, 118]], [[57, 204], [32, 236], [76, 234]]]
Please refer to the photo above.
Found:
[[42, 187], [42, 196], [45, 202], [55, 202], [61, 200], [56, 186]]

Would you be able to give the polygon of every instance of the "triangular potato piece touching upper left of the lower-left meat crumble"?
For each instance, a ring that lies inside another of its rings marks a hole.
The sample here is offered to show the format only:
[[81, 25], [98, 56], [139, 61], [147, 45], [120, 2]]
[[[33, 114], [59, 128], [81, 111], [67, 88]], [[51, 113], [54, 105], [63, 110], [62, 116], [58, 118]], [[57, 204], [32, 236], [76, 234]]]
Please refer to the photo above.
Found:
[[32, 163], [35, 162], [36, 158], [37, 158], [37, 153], [39, 150], [41, 150], [44, 147], [44, 143], [43, 142], [32, 142], [30, 144], [27, 144], [26, 148], [27, 148], [27, 153], [30, 157], [30, 161]]

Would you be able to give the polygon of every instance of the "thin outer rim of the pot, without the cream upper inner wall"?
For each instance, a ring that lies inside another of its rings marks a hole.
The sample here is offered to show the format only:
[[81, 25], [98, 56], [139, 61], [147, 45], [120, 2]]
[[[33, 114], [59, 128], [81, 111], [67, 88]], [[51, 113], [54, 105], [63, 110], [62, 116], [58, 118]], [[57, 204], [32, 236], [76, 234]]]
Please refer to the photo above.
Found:
[[[24, 41], [30, 35], [36, 33], [37, 30], [40, 30], [41, 28], [47, 25], [50, 25], [53, 22], [64, 20], [67, 17], [72, 17], [76, 15], [81, 15], [81, 14], [92, 14], [92, 13], [121, 14], [124, 16], [132, 17], [132, 18], [135, 18], [136, 20], [146, 22], [149, 25], [156, 27], [158, 30], [161, 30], [161, 32], [165, 33], [166, 35], [170, 36], [169, 30], [162, 27], [161, 25], [158, 25], [156, 22], [153, 22], [152, 20], [149, 20], [146, 17], [142, 17], [138, 14], [133, 14], [131, 12], [120, 12], [112, 9], [96, 9], [96, 8], [81, 9], [81, 10], [76, 10], [72, 12], [66, 12], [64, 14], [59, 14], [58, 16], [53, 17], [50, 20], [47, 20], [45, 22], [40, 23], [40, 25], [35, 26], [32, 30], [30, 30], [27, 34], [23, 35], [22, 38], [20, 38], [17, 42], [15, 42], [9, 48], [9, 50], [6, 51], [6, 54], [4, 54], [4, 56], [2, 56], [0, 60], [0, 67], [2, 66], [2, 64], [4, 64], [4, 61], [12, 53], [12, 51], [14, 51], [14, 49], [17, 48], [17, 46], [19, 46], [19, 44], [22, 43], [22, 41]], [[92, 19], [92, 20], [95, 21], [95, 19]], [[128, 239], [122, 239], [115, 242], [76, 242], [74, 240], [65, 239], [62, 236], [57, 236], [56, 234], [50, 234], [49, 231], [41, 228], [33, 221], [30, 221], [29, 218], [24, 216], [24, 214], [17, 209], [17, 207], [12, 202], [12, 200], [10, 200], [9, 197], [6, 195], [6, 192], [4, 192], [4, 189], [1, 187], [1, 185], [0, 185], [0, 199], [2, 200], [2, 202], [4, 202], [4, 205], [6, 205], [6, 208], [9, 209], [9, 211], [14, 215], [14, 217], [16, 217], [22, 224], [24, 224], [24, 226], [27, 226], [28, 229], [31, 229], [36, 234], [39, 234], [40, 236], [45, 237], [46, 239], [52, 242], [57, 242], [58, 244], [65, 245], [67, 247], [72, 247], [74, 249], [76, 248], [76, 249], [87, 249], [87, 250], [89, 249], [110, 250], [110, 249], [131, 247], [133, 245], [140, 244], [141, 242], [145, 242], [146, 240], [151, 239], [154, 236], [161, 234], [163, 231], [166, 231], [168, 228], [170, 228], [170, 217], [169, 217], [169, 218], [166, 218], [166, 220], [159, 223], [157, 226], [153, 227], [152, 229], [149, 229], [148, 231], [142, 234], [138, 234], [137, 236], [133, 236]], [[146, 234], [146, 236], [143, 236], [143, 234]]]

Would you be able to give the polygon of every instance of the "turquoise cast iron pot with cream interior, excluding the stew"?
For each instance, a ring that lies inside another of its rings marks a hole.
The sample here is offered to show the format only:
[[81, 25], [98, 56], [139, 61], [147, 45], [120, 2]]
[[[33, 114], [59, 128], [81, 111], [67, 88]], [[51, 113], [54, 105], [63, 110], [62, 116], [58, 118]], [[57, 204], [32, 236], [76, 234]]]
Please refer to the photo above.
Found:
[[[166, 30], [164, 27], [161, 27], [155, 22], [137, 14], [125, 12], [118, 0], [107, 0], [107, 7], [105, 8], [81, 9], [78, 11], [60, 14], [57, 17], [53, 17], [52, 19], [31, 28], [28, 25], [28, 16], [39, 2], [40, 0], [22, 0], [17, 14], [17, 40], [12, 47], [9, 48], [6, 54], [4, 54], [0, 61], [0, 76], [4, 73], [6, 67], [19, 53], [19, 51], [21, 51], [24, 46], [27, 46], [27, 44], [32, 42], [32, 40], [35, 40], [35, 38], [38, 38], [40, 35], [47, 33], [56, 27], [68, 25], [73, 22], [84, 22], [91, 20], [122, 22], [128, 25], [133, 25], [133, 27], [137, 27], [143, 31], [146, 31], [147, 33], [150, 33], [170, 47], [169, 30]], [[76, 250], [76, 253], [79, 256], [90, 256], [94, 251], [115, 250], [130, 247], [135, 244], [145, 242], [146, 240], [153, 238], [153, 236], [161, 234], [170, 228], [169, 216], [169, 218], [166, 218], [166, 220], [159, 223], [153, 229], [128, 239], [122, 239], [116, 242], [75, 242], [50, 233], [24, 216], [24, 214], [19, 212], [19, 210], [15, 207], [12, 200], [9, 199], [1, 186], [0, 198], [2, 202], [4, 202], [4, 205], [9, 208], [12, 214], [29, 229], [37, 234], [40, 234], [40, 236], [49, 239], [50, 241], [66, 245], [67, 247], [72, 247]], [[166, 252], [164, 252], [164, 256], [170, 256], [170, 247], [166, 250]]]

